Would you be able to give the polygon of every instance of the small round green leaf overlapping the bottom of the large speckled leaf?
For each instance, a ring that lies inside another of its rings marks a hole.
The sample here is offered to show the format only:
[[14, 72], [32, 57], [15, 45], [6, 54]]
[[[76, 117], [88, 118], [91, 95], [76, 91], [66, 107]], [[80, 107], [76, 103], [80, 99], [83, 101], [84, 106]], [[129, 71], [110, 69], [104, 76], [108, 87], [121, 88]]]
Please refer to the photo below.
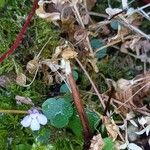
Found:
[[67, 126], [68, 122], [68, 117], [62, 113], [58, 113], [53, 119], [51, 119], [51, 124], [56, 128]]

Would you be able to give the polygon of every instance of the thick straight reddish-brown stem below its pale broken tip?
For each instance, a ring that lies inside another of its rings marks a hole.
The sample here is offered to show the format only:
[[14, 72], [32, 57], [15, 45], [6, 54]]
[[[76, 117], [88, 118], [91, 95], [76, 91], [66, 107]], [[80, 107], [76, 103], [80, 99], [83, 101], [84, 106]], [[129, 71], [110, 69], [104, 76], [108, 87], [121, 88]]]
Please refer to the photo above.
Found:
[[67, 76], [67, 80], [68, 80], [69, 85], [71, 87], [72, 96], [74, 99], [74, 104], [76, 106], [76, 109], [78, 111], [78, 114], [79, 114], [79, 117], [80, 117], [80, 120], [81, 120], [81, 123], [83, 126], [83, 135], [84, 135], [84, 142], [85, 142], [84, 143], [84, 149], [87, 149], [90, 145], [90, 140], [92, 138], [92, 133], [91, 133], [91, 129], [89, 126], [89, 121], [88, 121], [87, 115], [85, 113], [83, 103], [80, 99], [79, 91], [77, 89], [76, 83], [75, 83], [71, 73]]

